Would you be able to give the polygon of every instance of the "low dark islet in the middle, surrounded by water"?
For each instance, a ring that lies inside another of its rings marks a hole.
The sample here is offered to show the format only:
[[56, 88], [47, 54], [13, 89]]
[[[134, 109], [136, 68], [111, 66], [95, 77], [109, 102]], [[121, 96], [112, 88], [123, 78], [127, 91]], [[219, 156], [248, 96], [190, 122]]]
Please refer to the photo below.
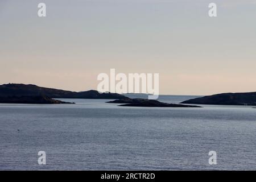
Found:
[[119, 106], [131, 106], [131, 107], [200, 107], [193, 105], [183, 104], [167, 104], [156, 100], [148, 100], [143, 98], [124, 98], [115, 101], [109, 101], [107, 103], [118, 103], [122, 104]]

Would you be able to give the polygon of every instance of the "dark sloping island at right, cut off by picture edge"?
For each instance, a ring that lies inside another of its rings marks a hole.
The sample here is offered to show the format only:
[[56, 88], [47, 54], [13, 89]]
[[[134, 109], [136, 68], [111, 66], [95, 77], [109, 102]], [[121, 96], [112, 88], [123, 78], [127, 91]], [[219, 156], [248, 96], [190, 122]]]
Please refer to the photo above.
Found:
[[221, 93], [212, 96], [193, 98], [181, 104], [209, 104], [209, 105], [250, 105], [256, 106], [256, 92]]

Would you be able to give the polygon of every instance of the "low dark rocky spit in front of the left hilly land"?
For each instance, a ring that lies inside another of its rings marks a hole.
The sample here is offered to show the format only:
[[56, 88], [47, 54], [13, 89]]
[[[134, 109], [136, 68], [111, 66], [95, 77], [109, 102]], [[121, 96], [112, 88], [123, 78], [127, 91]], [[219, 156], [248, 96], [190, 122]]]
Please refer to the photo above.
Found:
[[0, 103], [5, 104], [75, 104], [63, 102], [46, 96], [7, 96], [0, 97]]

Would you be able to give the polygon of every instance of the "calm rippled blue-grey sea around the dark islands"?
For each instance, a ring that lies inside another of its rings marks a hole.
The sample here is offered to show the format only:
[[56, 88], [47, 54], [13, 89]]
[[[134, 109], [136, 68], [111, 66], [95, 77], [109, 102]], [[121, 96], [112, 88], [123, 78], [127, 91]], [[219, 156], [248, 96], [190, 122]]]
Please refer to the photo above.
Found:
[[[137, 96], [133, 96], [137, 97]], [[140, 96], [144, 97], [144, 96]], [[179, 103], [193, 96], [160, 96]], [[0, 169], [256, 169], [256, 109], [0, 104]], [[17, 131], [20, 130], [20, 131]], [[217, 152], [210, 166], [208, 152]], [[38, 164], [46, 151], [46, 165]]]

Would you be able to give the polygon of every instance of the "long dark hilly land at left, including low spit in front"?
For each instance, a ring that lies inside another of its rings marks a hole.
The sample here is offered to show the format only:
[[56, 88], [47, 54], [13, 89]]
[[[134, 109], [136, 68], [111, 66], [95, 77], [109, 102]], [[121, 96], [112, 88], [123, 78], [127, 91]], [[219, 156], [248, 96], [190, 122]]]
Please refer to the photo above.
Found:
[[31, 84], [3, 84], [0, 85], [0, 98], [0, 103], [67, 104], [68, 102], [52, 98], [121, 99], [128, 97], [117, 93], [98, 93], [97, 90], [72, 92]]

